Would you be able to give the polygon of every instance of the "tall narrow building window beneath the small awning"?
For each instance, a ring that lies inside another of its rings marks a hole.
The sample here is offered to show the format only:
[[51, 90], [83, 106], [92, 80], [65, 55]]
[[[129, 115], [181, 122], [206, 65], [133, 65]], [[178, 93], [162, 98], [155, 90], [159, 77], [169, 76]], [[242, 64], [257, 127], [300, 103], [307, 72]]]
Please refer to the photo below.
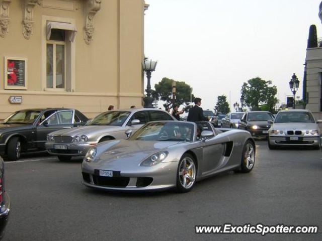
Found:
[[46, 79], [47, 88], [64, 89], [66, 79], [65, 31], [52, 29], [47, 41]]

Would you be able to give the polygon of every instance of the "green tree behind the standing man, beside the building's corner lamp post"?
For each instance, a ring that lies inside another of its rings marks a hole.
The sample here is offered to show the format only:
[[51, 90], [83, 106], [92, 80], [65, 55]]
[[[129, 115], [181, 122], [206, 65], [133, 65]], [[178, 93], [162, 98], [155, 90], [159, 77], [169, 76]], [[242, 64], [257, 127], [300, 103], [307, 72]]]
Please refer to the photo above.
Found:
[[[164, 77], [160, 82], [154, 85], [153, 97], [166, 101], [165, 108], [172, 107], [172, 82], [173, 79]], [[194, 95], [192, 95], [194, 99]], [[176, 101], [175, 104], [190, 103], [190, 85], [184, 81], [176, 81]]]

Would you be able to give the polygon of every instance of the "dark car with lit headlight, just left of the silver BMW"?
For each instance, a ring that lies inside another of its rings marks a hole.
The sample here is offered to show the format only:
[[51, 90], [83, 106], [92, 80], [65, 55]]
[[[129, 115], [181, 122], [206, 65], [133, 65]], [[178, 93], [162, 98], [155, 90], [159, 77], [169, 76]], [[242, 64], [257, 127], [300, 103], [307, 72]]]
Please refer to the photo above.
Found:
[[253, 137], [267, 137], [268, 129], [273, 121], [274, 116], [269, 111], [249, 111], [241, 117], [238, 129], [249, 131]]

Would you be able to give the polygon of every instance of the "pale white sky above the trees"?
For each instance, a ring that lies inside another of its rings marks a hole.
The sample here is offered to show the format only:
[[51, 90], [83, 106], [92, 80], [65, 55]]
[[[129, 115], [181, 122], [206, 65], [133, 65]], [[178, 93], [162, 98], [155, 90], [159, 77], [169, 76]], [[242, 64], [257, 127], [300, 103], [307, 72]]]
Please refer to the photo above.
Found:
[[[157, 60], [151, 86], [168, 77], [185, 81], [213, 109], [218, 95], [240, 102], [244, 82], [260, 77], [291, 96], [293, 73], [302, 81], [308, 30], [321, 0], [145, 0], [144, 54]], [[146, 87], [146, 77], [145, 77]]]

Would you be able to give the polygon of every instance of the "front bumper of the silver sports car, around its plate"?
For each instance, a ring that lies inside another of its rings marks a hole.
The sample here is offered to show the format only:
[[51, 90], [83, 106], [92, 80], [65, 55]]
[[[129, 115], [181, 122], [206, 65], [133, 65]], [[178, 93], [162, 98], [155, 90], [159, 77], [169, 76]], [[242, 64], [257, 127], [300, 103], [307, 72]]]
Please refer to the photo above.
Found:
[[[102, 168], [95, 163], [83, 162], [83, 184], [112, 191], [149, 191], [173, 188], [177, 184], [177, 169], [179, 162], [159, 163], [151, 167], [137, 167], [129, 170], [114, 170]], [[100, 176], [99, 170], [113, 172], [112, 177]]]

